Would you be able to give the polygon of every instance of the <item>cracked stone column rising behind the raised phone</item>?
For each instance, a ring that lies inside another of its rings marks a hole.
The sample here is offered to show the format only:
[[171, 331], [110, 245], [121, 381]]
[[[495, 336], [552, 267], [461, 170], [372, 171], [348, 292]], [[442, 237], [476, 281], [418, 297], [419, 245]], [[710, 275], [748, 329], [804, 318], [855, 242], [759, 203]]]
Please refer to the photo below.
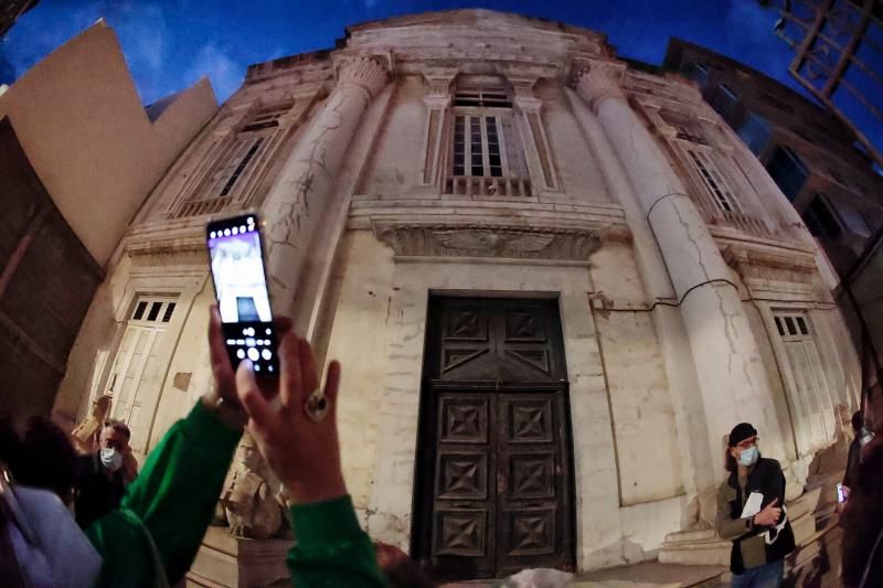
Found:
[[310, 238], [334, 197], [331, 190], [343, 156], [362, 114], [387, 79], [386, 68], [372, 58], [344, 62], [334, 89], [264, 201], [266, 269], [278, 313], [291, 313]]

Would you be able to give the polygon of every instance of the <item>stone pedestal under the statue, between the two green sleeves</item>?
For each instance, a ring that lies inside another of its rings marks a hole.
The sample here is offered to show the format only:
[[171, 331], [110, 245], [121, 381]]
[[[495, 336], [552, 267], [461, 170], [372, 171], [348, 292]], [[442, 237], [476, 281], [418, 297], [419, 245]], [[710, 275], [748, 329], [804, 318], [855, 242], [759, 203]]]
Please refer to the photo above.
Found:
[[225, 527], [209, 527], [188, 571], [188, 588], [289, 586], [285, 556], [290, 539], [245, 539]]

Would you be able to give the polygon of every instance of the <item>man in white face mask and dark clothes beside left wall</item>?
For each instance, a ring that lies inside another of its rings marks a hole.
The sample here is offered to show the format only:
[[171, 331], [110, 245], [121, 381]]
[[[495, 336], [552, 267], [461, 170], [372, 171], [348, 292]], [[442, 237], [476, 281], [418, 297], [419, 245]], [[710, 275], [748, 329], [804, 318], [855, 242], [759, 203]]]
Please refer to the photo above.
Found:
[[102, 429], [98, 451], [79, 458], [75, 512], [82, 528], [116, 509], [135, 479], [137, 463], [132, 464], [130, 457], [130, 437], [126, 424], [108, 420]]

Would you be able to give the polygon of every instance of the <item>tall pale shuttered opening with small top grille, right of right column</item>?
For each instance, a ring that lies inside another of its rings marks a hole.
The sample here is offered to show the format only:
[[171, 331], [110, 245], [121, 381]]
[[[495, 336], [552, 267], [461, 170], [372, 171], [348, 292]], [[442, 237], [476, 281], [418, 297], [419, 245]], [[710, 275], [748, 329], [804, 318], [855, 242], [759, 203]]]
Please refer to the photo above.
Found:
[[827, 443], [834, 435], [838, 402], [828, 384], [809, 317], [802, 311], [776, 311], [776, 330], [785, 351], [783, 376], [801, 451]]

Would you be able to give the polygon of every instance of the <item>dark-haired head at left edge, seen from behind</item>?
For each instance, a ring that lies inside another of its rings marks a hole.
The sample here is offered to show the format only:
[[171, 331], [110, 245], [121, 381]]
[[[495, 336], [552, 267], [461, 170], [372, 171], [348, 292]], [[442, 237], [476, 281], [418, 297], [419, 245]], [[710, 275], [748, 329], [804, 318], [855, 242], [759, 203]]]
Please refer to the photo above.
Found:
[[57, 425], [42, 416], [17, 421], [7, 415], [0, 418], [0, 460], [17, 483], [49, 490], [70, 504], [76, 481], [76, 451]]

